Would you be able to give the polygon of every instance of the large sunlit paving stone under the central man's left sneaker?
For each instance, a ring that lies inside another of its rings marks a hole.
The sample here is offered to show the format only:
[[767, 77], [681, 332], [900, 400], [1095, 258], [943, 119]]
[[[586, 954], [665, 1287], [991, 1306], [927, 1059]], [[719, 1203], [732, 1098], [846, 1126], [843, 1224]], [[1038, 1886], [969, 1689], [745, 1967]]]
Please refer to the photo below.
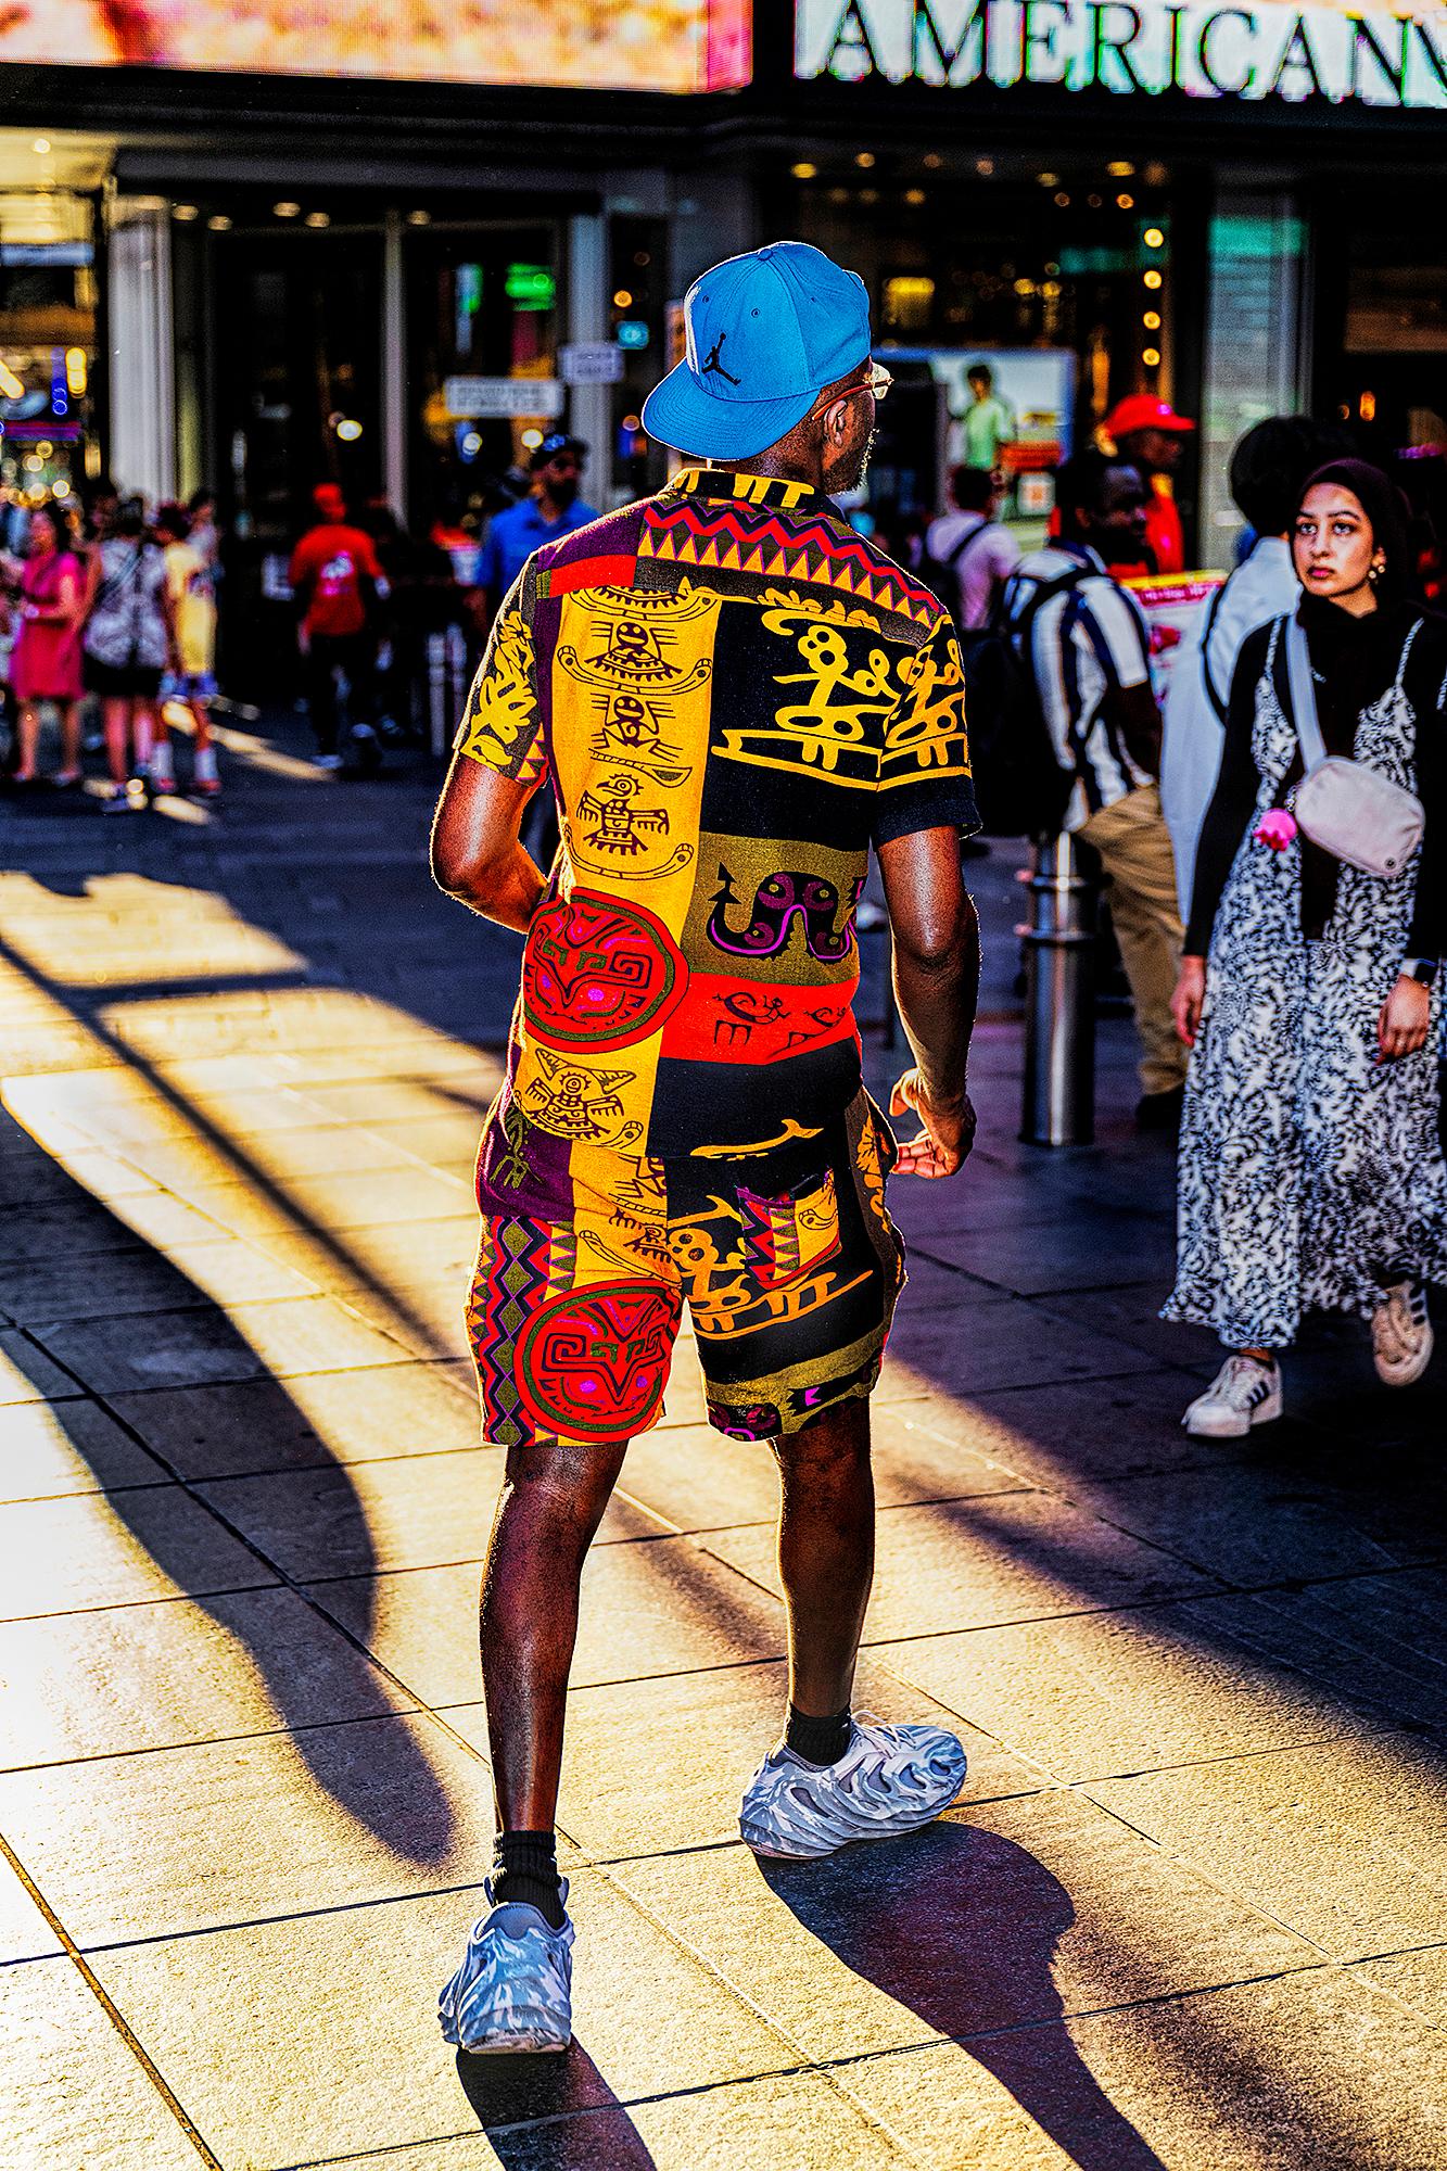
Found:
[[571, 2110], [611, 2108], [793, 2062], [602, 1878], [576, 1876], [569, 1906], [576, 2047], [561, 2073], [552, 2058], [495, 2060], [467, 2075], [474, 2102], [437, 2028], [437, 1989], [476, 1893], [104, 1952], [93, 1967], [222, 2162], [250, 2171], [467, 2132], [478, 2099], [489, 2125], [511, 2125], [554, 2112], [561, 2091]]

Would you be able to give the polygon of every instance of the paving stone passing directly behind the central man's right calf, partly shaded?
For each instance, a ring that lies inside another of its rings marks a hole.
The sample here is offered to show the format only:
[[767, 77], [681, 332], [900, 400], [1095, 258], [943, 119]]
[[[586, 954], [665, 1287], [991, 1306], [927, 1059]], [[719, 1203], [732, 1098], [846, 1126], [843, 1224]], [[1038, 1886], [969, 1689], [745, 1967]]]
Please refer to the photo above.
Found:
[[[713, 1531], [708, 1552], [778, 1591], [773, 1533]], [[865, 1641], [1052, 1613], [1104, 1611], [1215, 1589], [1212, 1578], [1043, 1494], [995, 1494], [878, 1518], [878, 1565]]]

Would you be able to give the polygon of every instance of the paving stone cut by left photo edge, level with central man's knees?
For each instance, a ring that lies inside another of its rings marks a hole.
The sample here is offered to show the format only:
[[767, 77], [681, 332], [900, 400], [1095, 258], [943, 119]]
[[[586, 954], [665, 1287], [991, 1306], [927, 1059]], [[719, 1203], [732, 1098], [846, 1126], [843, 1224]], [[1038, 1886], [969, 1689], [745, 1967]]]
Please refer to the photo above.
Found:
[[178, 1485], [0, 1507], [0, 1620], [276, 1583]]

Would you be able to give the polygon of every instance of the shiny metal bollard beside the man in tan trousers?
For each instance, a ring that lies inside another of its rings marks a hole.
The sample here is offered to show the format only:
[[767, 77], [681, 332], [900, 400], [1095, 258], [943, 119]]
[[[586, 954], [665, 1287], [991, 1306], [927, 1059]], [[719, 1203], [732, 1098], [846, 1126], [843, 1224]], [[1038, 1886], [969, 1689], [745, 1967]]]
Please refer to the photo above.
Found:
[[1089, 1146], [1095, 1138], [1095, 899], [1075, 840], [1041, 838], [1026, 944], [1026, 1099], [1030, 1146]]

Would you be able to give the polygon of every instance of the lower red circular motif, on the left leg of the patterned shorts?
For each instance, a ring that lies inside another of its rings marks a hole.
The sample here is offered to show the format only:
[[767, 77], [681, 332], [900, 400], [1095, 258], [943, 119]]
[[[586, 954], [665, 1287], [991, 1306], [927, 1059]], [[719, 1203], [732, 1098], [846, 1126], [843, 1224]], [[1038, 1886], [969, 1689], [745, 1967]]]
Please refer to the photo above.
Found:
[[658, 1415], [682, 1318], [660, 1281], [565, 1290], [532, 1313], [513, 1376], [528, 1415], [561, 1439], [632, 1439]]

